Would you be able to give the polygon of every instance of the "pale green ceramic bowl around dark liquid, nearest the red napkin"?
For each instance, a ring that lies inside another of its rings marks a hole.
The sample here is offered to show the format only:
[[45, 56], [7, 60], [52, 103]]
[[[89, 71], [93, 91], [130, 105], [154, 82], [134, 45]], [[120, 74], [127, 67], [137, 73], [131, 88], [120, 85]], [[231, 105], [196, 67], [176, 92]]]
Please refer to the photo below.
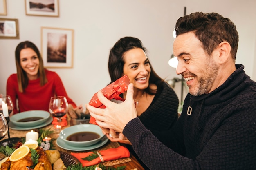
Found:
[[[67, 140], [67, 138], [70, 137], [70, 135], [76, 135], [78, 133], [83, 133], [83, 132], [96, 133], [98, 134], [98, 138], [93, 140], [88, 140], [88, 141]], [[67, 145], [76, 146], [76, 147], [84, 147], [84, 146], [90, 146], [90, 145], [96, 144], [101, 140], [103, 136], [104, 134], [102, 133], [101, 128], [94, 124], [79, 124], [79, 125], [70, 126], [68, 128], [61, 130], [59, 134], [59, 138], [63, 140]]]

